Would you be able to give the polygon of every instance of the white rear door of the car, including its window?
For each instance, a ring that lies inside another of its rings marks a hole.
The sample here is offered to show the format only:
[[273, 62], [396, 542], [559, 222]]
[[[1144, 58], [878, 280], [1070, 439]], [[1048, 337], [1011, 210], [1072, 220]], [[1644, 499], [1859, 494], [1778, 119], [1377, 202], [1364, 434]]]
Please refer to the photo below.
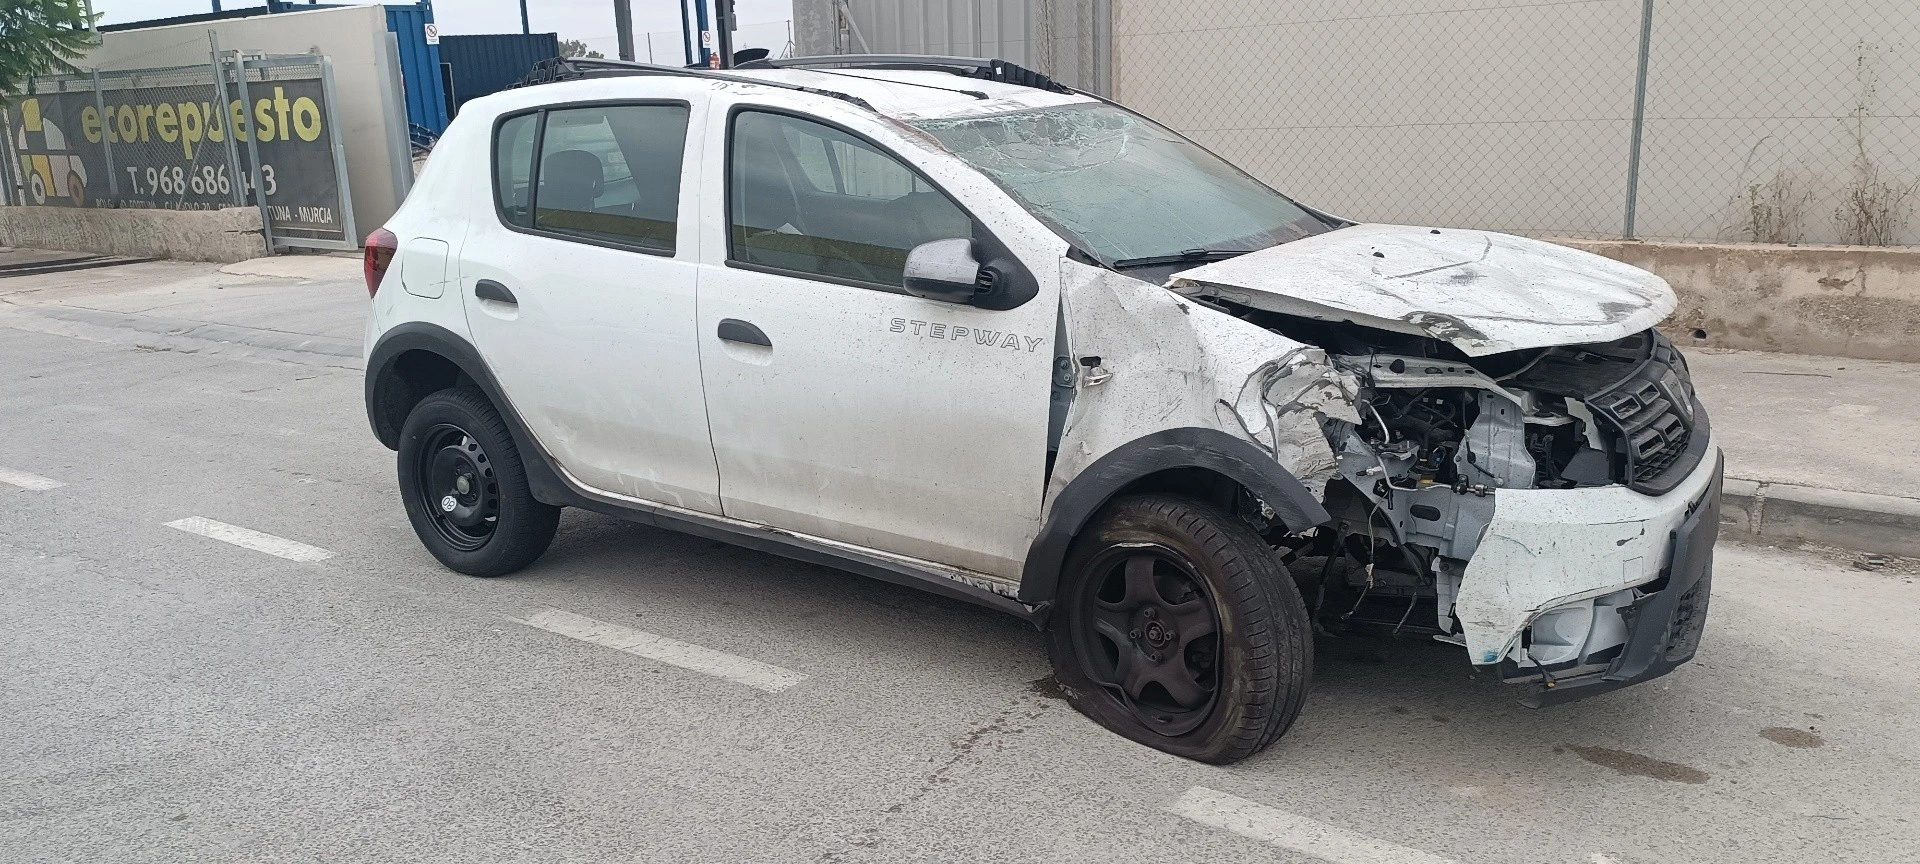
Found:
[[497, 213], [459, 288], [488, 367], [588, 488], [720, 513], [693, 334], [699, 159], [685, 100], [549, 106], [495, 127]]

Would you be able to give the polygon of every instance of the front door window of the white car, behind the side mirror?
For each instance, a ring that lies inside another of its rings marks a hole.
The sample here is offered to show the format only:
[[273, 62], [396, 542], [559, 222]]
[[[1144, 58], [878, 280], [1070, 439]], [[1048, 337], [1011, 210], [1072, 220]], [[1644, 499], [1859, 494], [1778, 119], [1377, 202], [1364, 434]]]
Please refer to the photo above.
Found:
[[899, 290], [914, 246], [973, 234], [947, 194], [839, 129], [741, 111], [728, 152], [733, 261]]

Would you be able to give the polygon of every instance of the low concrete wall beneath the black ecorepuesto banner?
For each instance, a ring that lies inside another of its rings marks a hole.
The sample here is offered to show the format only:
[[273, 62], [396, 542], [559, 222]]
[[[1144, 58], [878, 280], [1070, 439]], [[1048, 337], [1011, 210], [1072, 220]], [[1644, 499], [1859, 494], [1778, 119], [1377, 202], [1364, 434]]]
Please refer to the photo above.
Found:
[[246, 261], [267, 253], [259, 207], [0, 207], [0, 246], [186, 261]]

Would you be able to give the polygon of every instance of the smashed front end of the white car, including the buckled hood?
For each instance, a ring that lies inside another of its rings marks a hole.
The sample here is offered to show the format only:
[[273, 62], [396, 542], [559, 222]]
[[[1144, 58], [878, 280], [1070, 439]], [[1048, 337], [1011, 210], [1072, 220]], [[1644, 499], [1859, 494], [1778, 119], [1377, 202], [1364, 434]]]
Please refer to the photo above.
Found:
[[1323, 349], [1329, 524], [1269, 534], [1327, 632], [1427, 636], [1580, 699], [1693, 657], [1720, 451], [1659, 276], [1538, 240], [1352, 225], [1167, 288]]

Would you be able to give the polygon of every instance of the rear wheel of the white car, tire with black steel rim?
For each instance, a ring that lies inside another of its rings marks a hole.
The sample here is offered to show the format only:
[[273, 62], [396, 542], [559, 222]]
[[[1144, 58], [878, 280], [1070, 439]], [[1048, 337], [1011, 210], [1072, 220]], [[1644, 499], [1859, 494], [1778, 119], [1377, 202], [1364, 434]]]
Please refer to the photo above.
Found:
[[397, 463], [407, 520], [449, 570], [505, 576], [553, 543], [561, 509], [534, 499], [486, 394], [451, 388], [420, 399], [399, 428]]

